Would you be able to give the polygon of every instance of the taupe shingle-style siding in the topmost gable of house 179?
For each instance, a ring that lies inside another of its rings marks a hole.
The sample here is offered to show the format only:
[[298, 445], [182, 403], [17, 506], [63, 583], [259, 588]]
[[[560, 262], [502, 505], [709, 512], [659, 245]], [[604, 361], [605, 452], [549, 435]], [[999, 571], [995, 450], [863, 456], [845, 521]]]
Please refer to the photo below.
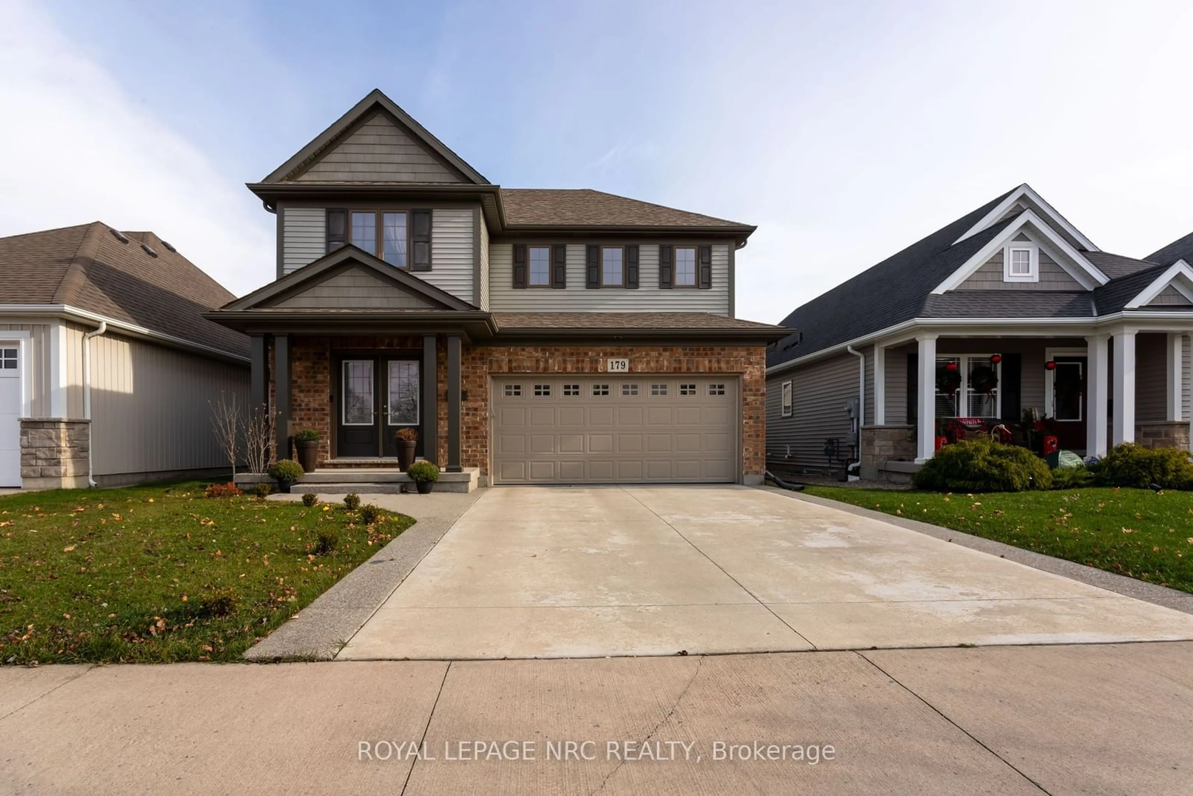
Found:
[[463, 183], [388, 113], [377, 112], [346, 135], [296, 180]]

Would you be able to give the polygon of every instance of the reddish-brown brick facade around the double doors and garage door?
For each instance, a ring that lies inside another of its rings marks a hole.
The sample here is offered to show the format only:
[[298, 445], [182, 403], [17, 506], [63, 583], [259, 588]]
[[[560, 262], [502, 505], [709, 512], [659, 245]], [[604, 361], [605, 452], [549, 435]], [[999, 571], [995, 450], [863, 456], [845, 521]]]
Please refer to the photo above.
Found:
[[[291, 338], [291, 430], [320, 434], [320, 461], [332, 455], [334, 380], [338, 352], [406, 351], [420, 356], [422, 338]], [[600, 374], [607, 358], [626, 357], [638, 374], [725, 374], [742, 378], [742, 468], [761, 476], [766, 457], [766, 350], [764, 346], [464, 346], [460, 358], [460, 464], [489, 470], [489, 376], [503, 374]], [[272, 360], [271, 360], [272, 372]], [[447, 462], [447, 345], [439, 339], [438, 445], [435, 459]], [[272, 394], [272, 380], [271, 380]], [[429, 456], [428, 456], [429, 457]]]

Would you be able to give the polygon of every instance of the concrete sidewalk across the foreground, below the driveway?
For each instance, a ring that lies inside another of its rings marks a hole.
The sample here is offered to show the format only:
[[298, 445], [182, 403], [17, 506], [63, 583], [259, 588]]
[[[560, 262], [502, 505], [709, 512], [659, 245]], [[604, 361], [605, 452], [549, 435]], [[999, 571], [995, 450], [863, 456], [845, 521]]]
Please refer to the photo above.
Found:
[[[0, 667], [0, 792], [1187, 794], [1191, 656], [1172, 642]], [[499, 742], [481, 747], [492, 759], [460, 760], [476, 741]], [[716, 759], [718, 741], [737, 759]], [[573, 759], [548, 759], [549, 742]], [[740, 759], [755, 742], [787, 759]]]

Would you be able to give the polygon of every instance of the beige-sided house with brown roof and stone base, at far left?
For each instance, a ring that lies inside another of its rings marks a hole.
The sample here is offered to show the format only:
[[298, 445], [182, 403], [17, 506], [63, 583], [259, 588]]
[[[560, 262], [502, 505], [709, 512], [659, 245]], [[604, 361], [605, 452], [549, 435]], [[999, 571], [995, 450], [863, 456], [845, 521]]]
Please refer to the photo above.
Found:
[[233, 296], [153, 233], [94, 222], [0, 239], [0, 487], [227, 471], [221, 395], [248, 400]]

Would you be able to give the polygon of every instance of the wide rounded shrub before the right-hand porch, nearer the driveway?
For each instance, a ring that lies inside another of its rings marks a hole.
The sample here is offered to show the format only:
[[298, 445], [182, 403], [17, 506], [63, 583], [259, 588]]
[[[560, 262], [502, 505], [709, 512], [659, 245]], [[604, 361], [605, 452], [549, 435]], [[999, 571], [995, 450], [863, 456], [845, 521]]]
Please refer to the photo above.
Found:
[[1050, 488], [1052, 473], [1026, 448], [977, 437], [941, 448], [914, 482], [919, 489], [937, 492], [1024, 492]]

